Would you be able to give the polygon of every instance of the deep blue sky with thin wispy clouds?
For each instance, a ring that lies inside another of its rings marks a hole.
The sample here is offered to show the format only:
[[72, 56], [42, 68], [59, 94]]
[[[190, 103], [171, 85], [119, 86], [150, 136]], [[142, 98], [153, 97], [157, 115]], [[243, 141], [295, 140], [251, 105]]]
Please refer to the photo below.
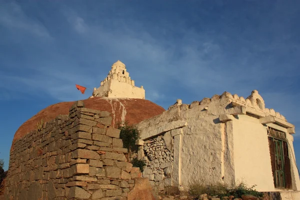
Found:
[[[121, 60], [164, 108], [257, 89], [300, 126], [298, 0], [0, 0], [0, 158], [50, 104], [87, 98]], [[294, 148], [300, 165], [300, 133]]]

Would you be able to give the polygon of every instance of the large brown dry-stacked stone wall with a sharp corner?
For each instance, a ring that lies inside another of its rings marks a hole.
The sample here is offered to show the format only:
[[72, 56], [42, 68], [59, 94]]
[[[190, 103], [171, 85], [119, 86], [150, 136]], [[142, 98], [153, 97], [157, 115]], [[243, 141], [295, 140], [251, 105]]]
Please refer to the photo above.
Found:
[[17, 140], [5, 199], [126, 199], [141, 173], [126, 162], [120, 130], [110, 122], [108, 112], [77, 101], [68, 116], [59, 115]]

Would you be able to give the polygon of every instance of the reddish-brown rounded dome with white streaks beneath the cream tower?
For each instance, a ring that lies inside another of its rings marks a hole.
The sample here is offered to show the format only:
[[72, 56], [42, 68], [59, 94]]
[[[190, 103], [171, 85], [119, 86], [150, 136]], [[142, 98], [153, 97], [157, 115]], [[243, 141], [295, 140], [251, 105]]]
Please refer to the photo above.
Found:
[[[163, 107], [149, 100], [138, 98], [94, 97], [85, 99], [83, 102], [86, 108], [110, 112], [110, 116], [112, 117], [111, 124], [113, 126], [121, 121], [126, 121], [128, 124], [136, 124], [164, 111]], [[36, 129], [36, 123], [40, 122], [41, 119], [46, 122], [54, 119], [58, 114], [68, 114], [69, 108], [73, 103], [74, 101], [60, 102], [39, 111], [16, 130], [12, 144], [31, 130]]]

